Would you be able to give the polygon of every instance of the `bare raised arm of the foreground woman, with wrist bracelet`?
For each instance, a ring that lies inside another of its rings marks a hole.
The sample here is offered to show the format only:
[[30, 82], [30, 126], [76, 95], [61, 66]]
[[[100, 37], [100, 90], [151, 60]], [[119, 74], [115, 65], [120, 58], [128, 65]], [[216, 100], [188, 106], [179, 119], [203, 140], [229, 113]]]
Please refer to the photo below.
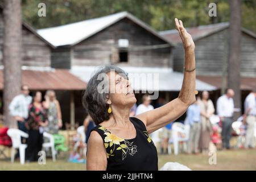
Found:
[[179, 96], [168, 102], [166, 105], [157, 109], [139, 114], [136, 117], [141, 119], [147, 127], [148, 133], [166, 126], [175, 121], [185, 113], [188, 106], [196, 101], [196, 63], [195, 63], [195, 44], [190, 34], [183, 27], [181, 20], [175, 18], [175, 26], [183, 42], [185, 60], [184, 60], [184, 78]]

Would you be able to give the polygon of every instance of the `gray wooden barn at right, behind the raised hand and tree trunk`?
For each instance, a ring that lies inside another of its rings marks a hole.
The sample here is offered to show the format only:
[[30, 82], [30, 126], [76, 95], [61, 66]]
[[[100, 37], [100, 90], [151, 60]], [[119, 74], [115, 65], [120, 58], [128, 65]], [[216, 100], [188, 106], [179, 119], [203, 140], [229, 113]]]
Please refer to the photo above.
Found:
[[[196, 44], [197, 79], [216, 86], [213, 100], [220, 96], [222, 85], [226, 85], [228, 70], [229, 23], [186, 28]], [[159, 32], [175, 43], [174, 71], [183, 70], [183, 48], [176, 30]], [[241, 39], [241, 90], [242, 101], [250, 89], [256, 87], [256, 35], [242, 28]]]

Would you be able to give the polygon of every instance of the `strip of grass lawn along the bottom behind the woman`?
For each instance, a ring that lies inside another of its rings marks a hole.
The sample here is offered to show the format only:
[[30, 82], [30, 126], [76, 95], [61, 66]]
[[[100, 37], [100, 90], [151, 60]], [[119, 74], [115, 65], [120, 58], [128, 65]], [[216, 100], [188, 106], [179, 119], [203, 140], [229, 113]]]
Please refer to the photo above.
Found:
[[[188, 166], [192, 170], [256, 170], [256, 149], [217, 151], [217, 164], [208, 163], [208, 155], [159, 155], [159, 169], [166, 162], [177, 162]], [[47, 159], [45, 165], [38, 163], [26, 163], [20, 165], [18, 160], [11, 164], [10, 160], [0, 159], [0, 171], [2, 170], [86, 170], [85, 164], [69, 163], [65, 159], [57, 159], [52, 162]]]

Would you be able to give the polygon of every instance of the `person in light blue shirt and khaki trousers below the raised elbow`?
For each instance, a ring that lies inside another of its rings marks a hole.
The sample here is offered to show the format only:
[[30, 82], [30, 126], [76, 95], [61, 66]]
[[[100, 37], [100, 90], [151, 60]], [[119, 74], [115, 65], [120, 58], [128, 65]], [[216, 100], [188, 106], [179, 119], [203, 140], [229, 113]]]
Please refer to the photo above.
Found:
[[[196, 97], [196, 102], [188, 107], [186, 122], [190, 126], [188, 139], [188, 154], [199, 152], [199, 139], [201, 132], [200, 118], [200, 97]], [[192, 149], [193, 148], [193, 149]]]

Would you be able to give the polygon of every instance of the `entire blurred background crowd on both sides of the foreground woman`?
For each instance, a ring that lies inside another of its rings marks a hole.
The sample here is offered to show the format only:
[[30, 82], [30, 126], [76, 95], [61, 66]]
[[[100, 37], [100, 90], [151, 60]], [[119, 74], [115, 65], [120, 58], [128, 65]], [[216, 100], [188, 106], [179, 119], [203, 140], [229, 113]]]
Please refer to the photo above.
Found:
[[[22, 85], [21, 94], [14, 97], [9, 105], [10, 114], [16, 119], [18, 129], [28, 133], [28, 138], [22, 138], [23, 143], [27, 143], [26, 160], [27, 162], [38, 160], [38, 152], [42, 150], [43, 132], [57, 134], [63, 126], [61, 119], [61, 109], [59, 101], [56, 99], [55, 92], [48, 90], [42, 99], [41, 92], [35, 92], [32, 97], [27, 85]], [[216, 108], [212, 100], [209, 99], [209, 92], [204, 91], [196, 97], [196, 102], [187, 109], [186, 117], [182, 122], [189, 126], [187, 154], [207, 153], [210, 144], [214, 144], [218, 150], [230, 149], [230, 138], [232, 137], [232, 123], [234, 122], [234, 91], [226, 89], [224, 95], [218, 98]], [[167, 101], [159, 97], [154, 106], [151, 105], [150, 96], [142, 96], [142, 104], [134, 105], [130, 111], [130, 117], [161, 107]], [[241, 121], [240, 131], [244, 135], [245, 148], [255, 147], [255, 123], [256, 123], [256, 90], [250, 92], [244, 103], [245, 112], [238, 118]], [[171, 121], [170, 121], [171, 122]], [[168, 145], [172, 139], [172, 124], [160, 129], [157, 137], [160, 138], [160, 153], [168, 154]], [[86, 147], [90, 131], [95, 126], [92, 118], [84, 120], [83, 132], [85, 141], [78, 147]], [[155, 133], [154, 132], [154, 133]], [[154, 135], [151, 134], [151, 137]], [[179, 135], [185, 137], [184, 134]], [[153, 139], [154, 140], [154, 139]], [[81, 143], [81, 142], [80, 142]], [[19, 153], [16, 154], [18, 156]], [[73, 154], [75, 156], [75, 153]]]

